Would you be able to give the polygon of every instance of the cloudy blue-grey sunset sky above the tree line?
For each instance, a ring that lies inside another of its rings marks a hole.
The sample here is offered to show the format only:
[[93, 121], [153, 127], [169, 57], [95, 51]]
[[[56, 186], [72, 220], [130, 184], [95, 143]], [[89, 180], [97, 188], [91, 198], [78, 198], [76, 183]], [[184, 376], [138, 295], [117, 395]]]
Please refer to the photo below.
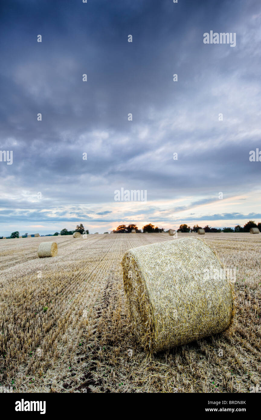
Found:
[[0, 39], [0, 236], [261, 221], [259, 0], [14, 0]]

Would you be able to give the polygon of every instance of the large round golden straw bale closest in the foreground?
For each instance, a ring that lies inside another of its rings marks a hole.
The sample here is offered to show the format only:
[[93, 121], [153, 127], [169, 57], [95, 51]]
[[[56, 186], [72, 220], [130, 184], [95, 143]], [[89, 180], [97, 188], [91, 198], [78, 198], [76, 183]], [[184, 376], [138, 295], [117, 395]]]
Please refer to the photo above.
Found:
[[145, 349], [179, 346], [230, 325], [232, 285], [201, 239], [129, 249], [122, 266], [133, 332]]

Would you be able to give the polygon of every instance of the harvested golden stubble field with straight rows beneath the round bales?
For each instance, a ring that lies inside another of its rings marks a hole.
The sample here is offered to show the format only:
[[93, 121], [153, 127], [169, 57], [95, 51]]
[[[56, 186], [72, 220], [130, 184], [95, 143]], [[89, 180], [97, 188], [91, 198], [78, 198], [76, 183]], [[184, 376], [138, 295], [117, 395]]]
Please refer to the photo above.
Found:
[[[178, 237], [188, 235], [196, 237]], [[131, 332], [120, 260], [130, 248], [169, 240], [175, 239], [164, 233], [0, 240], [0, 386], [13, 392], [260, 392], [261, 235], [204, 235], [227, 267], [236, 268], [232, 326], [149, 355]], [[57, 257], [38, 258], [42, 241], [57, 242]]]

